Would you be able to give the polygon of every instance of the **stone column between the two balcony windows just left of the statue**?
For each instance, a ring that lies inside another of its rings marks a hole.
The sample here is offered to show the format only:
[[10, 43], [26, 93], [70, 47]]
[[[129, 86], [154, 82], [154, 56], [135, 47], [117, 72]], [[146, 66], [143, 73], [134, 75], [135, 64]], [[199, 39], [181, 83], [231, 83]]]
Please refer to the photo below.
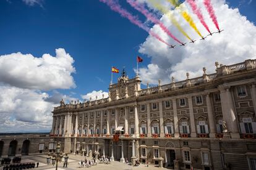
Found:
[[211, 104], [210, 94], [207, 94], [206, 97], [207, 102], [207, 113], [208, 113], [208, 120], [209, 120], [209, 127], [210, 127], [210, 137], [215, 137], [215, 118], [213, 116], [213, 108]]

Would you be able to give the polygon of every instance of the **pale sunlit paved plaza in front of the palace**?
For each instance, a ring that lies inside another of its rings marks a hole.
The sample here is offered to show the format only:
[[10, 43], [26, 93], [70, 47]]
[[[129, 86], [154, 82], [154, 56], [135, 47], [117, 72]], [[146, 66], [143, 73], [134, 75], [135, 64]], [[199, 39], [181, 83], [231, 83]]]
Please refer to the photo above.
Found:
[[[37, 161], [39, 162], [39, 167], [35, 168], [35, 169], [55, 169], [56, 166], [52, 165], [52, 164], [47, 164], [46, 163], [46, 156], [47, 155], [34, 155], [34, 156], [22, 156], [22, 162], [35, 162], [37, 163]], [[91, 166], [89, 168], [86, 167], [80, 167], [79, 165], [79, 161], [81, 160], [85, 160], [85, 156], [80, 156], [80, 155], [73, 155], [70, 154], [69, 155], [69, 160], [68, 160], [68, 168], [63, 168], [63, 162], [59, 164], [58, 169], [59, 170], [71, 170], [71, 169], [97, 169], [97, 170], [132, 170], [132, 169], [147, 169], [147, 170], [151, 170], [151, 169], [159, 169], [157, 166], [155, 166], [155, 164], [149, 164], [149, 166], [147, 167], [145, 164], [140, 164], [140, 166], [130, 166], [126, 163], [120, 163], [119, 161], [112, 161], [109, 164], [105, 164], [105, 163], [97, 163], [97, 165], [95, 166]], [[87, 157], [87, 160], [92, 160], [90, 158]], [[98, 161], [99, 162], [99, 161]]]

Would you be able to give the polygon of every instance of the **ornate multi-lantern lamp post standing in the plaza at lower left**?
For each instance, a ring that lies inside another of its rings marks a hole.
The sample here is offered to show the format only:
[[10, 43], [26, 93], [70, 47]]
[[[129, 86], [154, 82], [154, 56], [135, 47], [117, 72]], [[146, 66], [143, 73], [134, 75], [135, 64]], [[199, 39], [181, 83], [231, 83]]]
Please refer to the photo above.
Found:
[[[66, 154], [66, 156], [67, 156], [67, 154]], [[58, 142], [58, 144], [56, 146], [56, 152], [48, 153], [48, 156], [46, 157], [46, 163], [49, 164], [51, 162], [53, 164], [53, 166], [56, 163], [56, 170], [57, 170], [58, 169], [58, 163], [61, 163], [62, 158], [63, 158], [63, 154], [61, 152], [61, 143]], [[66, 159], [65, 159], [65, 161], [66, 161]]]

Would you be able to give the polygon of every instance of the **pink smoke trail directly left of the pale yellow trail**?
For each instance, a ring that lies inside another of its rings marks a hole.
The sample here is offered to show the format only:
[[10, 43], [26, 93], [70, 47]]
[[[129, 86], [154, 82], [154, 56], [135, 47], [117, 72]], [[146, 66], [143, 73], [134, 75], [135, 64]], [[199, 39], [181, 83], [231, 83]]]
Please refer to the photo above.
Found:
[[153, 16], [152, 14], [150, 14], [150, 12], [145, 9], [145, 7], [140, 6], [136, 1], [133, 0], [126, 0], [130, 6], [134, 7], [135, 9], [139, 10], [143, 15], [145, 15], [145, 17], [147, 17], [149, 20], [151, 20], [151, 22], [158, 24], [161, 29], [168, 34], [171, 38], [173, 38], [175, 41], [179, 42], [182, 44], [181, 41], [179, 41], [179, 39], [177, 39], [169, 30], [168, 28], [166, 28], [166, 26], [163, 25], [163, 23], [160, 22], [160, 20], [158, 20], [158, 18], [156, 18], [155, 16]]

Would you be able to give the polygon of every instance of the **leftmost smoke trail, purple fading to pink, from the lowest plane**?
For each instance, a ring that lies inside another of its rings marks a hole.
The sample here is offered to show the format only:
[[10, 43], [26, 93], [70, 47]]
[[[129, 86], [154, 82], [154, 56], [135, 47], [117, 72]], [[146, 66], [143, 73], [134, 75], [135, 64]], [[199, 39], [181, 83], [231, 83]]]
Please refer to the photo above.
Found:
[[134, 23], [135, 25], [139, 26], [143, 30], [147, 31], [149, 34], [151, 34], [151, 36], [154, 36], [159, 41], [163, 42], [164, 44], [166, 44], [168, 46], [171, 46], [170, 44], [165, 42], [163, 39], [161, 39], [160, 36], [158, 36], [158, 34], [153, 33], [153, 31], [151, 31], [150, 28], [148, 28], [142, 22], [140, 22], [140, 20], [137, 17], [130, 14], [130, 12], [128, 12], [126, 9], [123, 9], [114, 0], [100, 0], [100, 2], [107, 4], [112, 10], [121, 14], [122, 17], [127, 18], [131, 23]]

